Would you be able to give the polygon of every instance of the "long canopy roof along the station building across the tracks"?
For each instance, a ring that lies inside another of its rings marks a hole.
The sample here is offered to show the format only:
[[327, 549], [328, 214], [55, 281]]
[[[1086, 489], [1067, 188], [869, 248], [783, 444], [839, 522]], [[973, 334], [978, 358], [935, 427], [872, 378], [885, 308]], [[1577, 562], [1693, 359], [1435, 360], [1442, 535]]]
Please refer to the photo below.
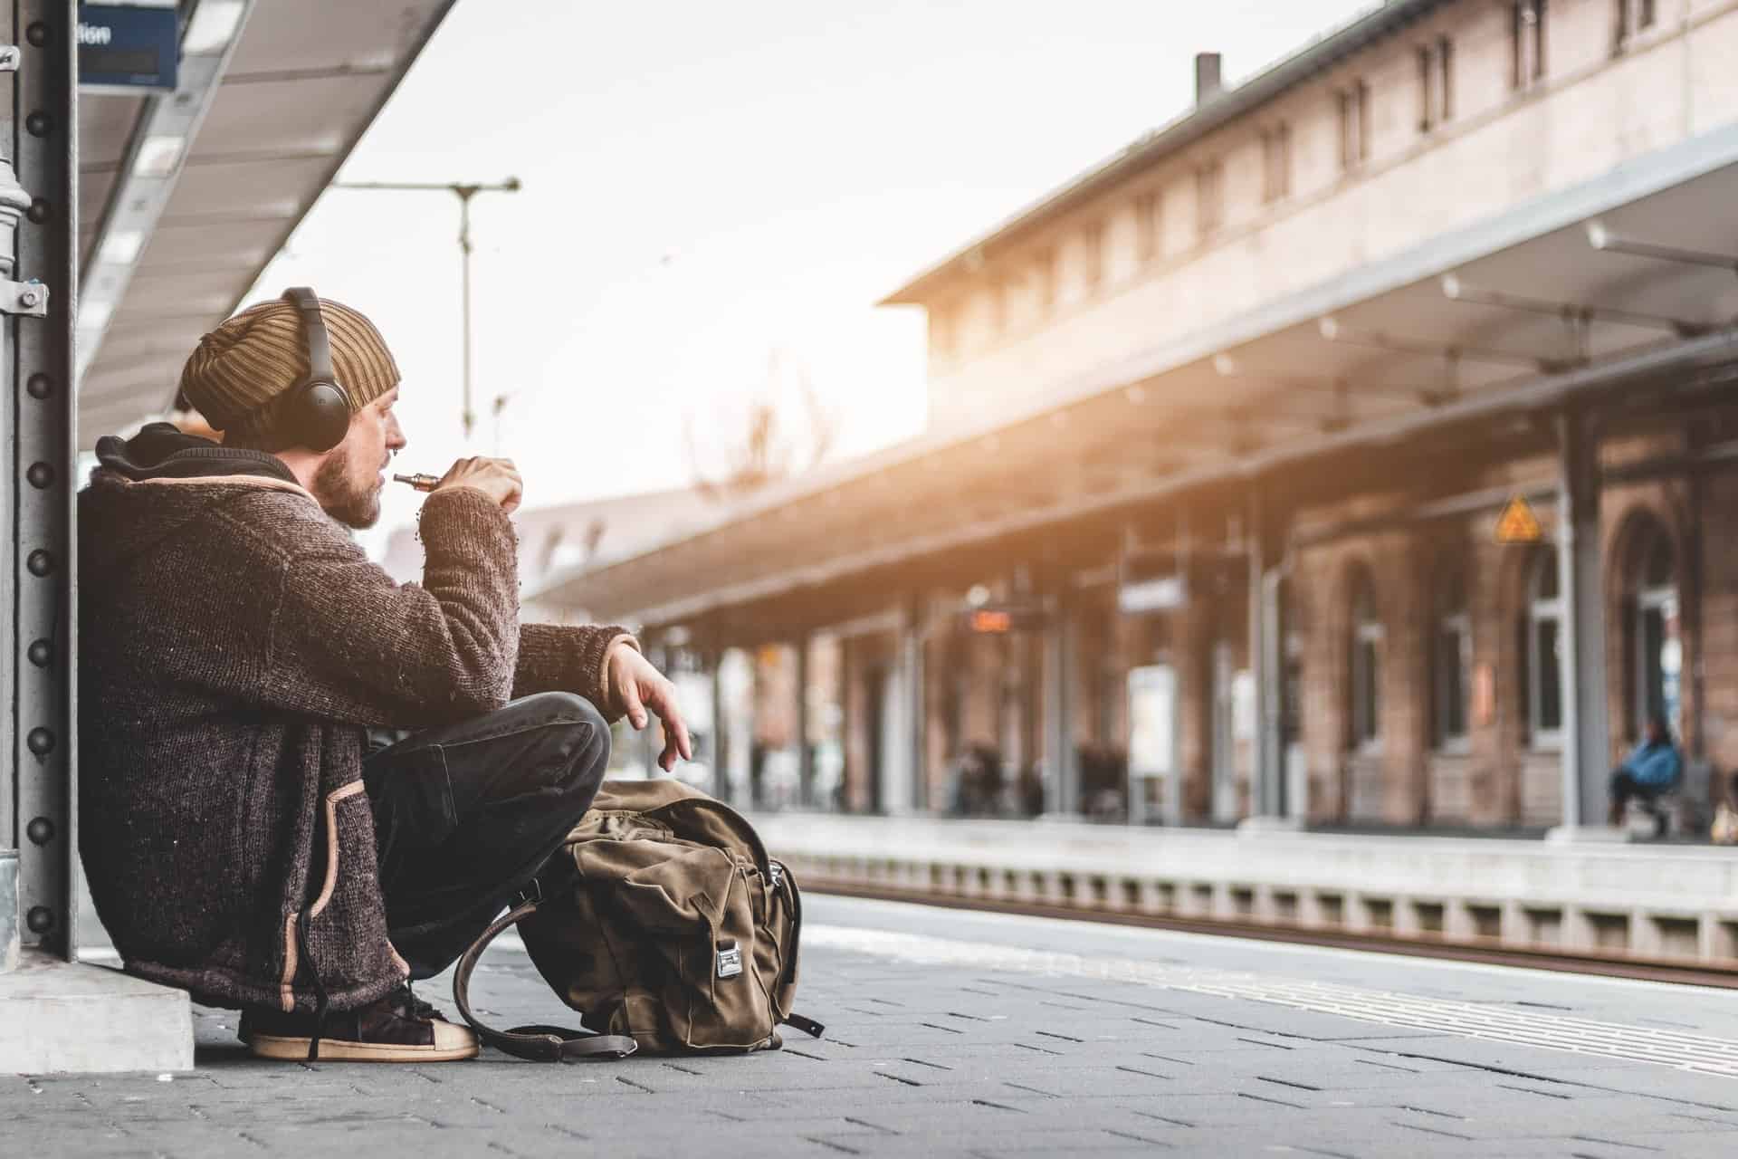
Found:
[[1639, 403], [1738, 365], [1735, 203], [1728, 129], [1060, 382], [1039, 408], [794, 480], [534, 603], [770, 629], [805, 594], [892, 599], [902, 568], [947, 553], [1330, 455], [1416, 457], [1505, 424], [1549, 445], [1538, 417], [1571, 398]]

